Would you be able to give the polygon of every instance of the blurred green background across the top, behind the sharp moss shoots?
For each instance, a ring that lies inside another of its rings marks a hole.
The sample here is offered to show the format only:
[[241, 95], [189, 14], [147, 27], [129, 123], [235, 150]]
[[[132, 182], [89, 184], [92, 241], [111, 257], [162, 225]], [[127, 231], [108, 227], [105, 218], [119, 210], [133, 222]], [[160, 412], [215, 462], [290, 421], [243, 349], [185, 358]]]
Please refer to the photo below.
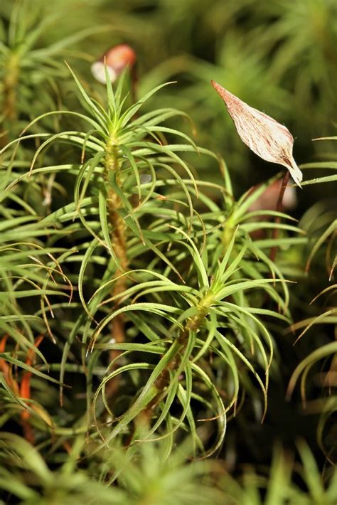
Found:
[[[18, 14], [9, 21], [14, 6], [19, 6]], [[277, 173], [279, 166], [257, 159], [242, 144], [210, 79], [284, 123], [295, 138], [298, 164], [320, 159], [321, 149], [323, 159], [333, 156], [332, 145], [311, 139], [336, 132], [335, 0], [4, 0], [0, 9], [2, 78], [9, 57], [4, 46], [11, 46], [5, 40], [9, 24], [26, 25], [16, 47], [41, 26], [19, 62], [16, 107], [23, 123], [52, 109], [53, 102], [73, 106], [73, 84], [63, 60], [91, 91], [104, 92], [94, 82], [90, 64], [109, 46], [129, 43], [137, 52], [138, 96], [176, 80], [147, 107], [188, 112], [196, 142], [223, 155], [238, 193]], [[38, 63], [44, 65], [42, 74]], [[185, 127], [191, 133], [190, 125]], [[212, 167], [197, 168], [202, 179], [219, 177]], [[306, 202], [316, 200], [317, 191], [326, 196], [326, 190], [315, 188], [314, 196], [309, 188]]]

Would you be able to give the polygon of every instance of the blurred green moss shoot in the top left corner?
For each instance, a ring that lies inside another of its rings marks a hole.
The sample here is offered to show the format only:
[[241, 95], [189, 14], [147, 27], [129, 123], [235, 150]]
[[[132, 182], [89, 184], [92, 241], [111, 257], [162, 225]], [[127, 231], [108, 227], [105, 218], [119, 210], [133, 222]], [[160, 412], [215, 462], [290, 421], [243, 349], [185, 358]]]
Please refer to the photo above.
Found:
[[[60, 23], [62, 14], [60, 11], [48, 13], [38, 3], [34, 9], [31, 7], [29, 0], [15, 1], [11, 12], [0, 20], [0, 122], [1, 133], [8, 139], [19, 134], [27, 120], [60, 102], [67, 80], [62, 58], [76, 55], [68, 48], [98, 31], [95, 27], [86, 28], [41, 45], [50, 28], [55, 30]], [[62, 91], [58, 86], [60, 80], [63, 80]], [[32, 115], [31, 104], [36, 100], [37, 90], [38, 101]]]

